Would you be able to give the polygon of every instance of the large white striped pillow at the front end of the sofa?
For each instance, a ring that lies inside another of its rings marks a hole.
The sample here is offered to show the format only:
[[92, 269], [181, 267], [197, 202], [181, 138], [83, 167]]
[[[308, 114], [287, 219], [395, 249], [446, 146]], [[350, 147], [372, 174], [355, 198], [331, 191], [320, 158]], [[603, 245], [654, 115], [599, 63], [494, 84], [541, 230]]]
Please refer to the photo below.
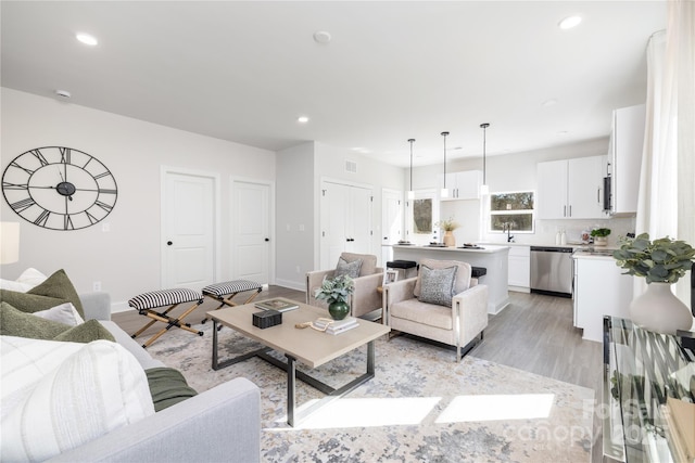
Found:
[[[14, 407], [7, 410], [5, 401]], [[33, 388], [3, 397], [1, 406], [2, 461], [43, 461], [154, 414], [142, 366], [108, 340], [83, 345]]]

